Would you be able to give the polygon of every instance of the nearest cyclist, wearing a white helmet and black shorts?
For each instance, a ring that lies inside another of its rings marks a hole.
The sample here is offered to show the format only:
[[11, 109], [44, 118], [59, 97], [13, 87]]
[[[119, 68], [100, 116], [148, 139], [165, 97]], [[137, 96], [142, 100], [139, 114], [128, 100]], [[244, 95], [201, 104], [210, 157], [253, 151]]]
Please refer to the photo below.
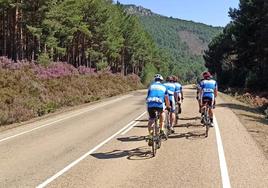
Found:
[[[164, 120], [165, 120], [165, 103], [167, 108], [169, 108], [169, 99], [168, 99], [168, 91], [167, 88], [161, 83], [163, 81], [163, 77], [160, 74], [156, 74], [154, 77], [154, 82], [149, 86], [147, 93], [147, 110], [149, 113], [149, 121], [148, 121], [148, 131], [149, 137], [152, 137], [152, 125], [156, 118], [155, 112], [159, 112], [160, 116], [160, 134], [164, 134]], [[152, 139], [149, 139], [148, 145], [152, 145]]]

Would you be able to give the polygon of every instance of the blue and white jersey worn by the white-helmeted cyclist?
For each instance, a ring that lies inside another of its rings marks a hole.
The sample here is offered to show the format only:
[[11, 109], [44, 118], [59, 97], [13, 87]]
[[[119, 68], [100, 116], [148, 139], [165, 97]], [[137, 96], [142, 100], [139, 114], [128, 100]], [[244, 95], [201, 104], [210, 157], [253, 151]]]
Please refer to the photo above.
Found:
[[148, 108], [164, 108], [165, 96], [167, 95], [167, 88], [160, 82], [153, 82], [147, 94], [147, 106]]

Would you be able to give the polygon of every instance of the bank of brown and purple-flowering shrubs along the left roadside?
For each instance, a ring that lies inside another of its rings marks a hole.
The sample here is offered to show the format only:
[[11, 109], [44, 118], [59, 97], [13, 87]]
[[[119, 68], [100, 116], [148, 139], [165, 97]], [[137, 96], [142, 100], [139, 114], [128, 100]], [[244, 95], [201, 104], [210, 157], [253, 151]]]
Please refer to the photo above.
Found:
[[141, 88], [136, 75], [76, 69], [67, 63], [47, 67], [0, 57], [0, 125], [26, 121], [58, 108], [93, 102]]

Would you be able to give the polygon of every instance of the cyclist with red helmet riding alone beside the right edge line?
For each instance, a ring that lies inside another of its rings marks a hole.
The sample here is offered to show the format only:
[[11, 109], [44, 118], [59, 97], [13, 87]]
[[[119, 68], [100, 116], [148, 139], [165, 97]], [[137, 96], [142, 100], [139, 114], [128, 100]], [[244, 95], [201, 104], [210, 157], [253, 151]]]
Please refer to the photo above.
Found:
[[[213, 111], [212, 108], [215, 108], [215, 98], [218, 95], [218, 86], [217, 82], [212, 79], [210, 72], [203, 73], [204, 80], [200, 83], [200, 96], [201, 96], [201, 104], [204, 105], [203, 101], [209, 101], [209, 117], [211, 121], [211, 126], [213, 127]], [[203, 117], [203, 112], [202, 117]], [[201, 119], [201, 123], [203, 123], [203, 118]]]

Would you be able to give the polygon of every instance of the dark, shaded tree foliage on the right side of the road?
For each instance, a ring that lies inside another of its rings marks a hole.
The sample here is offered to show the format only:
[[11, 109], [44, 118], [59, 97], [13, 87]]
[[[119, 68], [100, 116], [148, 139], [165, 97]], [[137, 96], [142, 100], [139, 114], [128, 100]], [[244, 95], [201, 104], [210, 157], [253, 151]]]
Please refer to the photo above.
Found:
[[240, 0], [229, 12], [232, 21], [209, 44], [206, 67], [227, 87], [268, 89], [268, 3]]

